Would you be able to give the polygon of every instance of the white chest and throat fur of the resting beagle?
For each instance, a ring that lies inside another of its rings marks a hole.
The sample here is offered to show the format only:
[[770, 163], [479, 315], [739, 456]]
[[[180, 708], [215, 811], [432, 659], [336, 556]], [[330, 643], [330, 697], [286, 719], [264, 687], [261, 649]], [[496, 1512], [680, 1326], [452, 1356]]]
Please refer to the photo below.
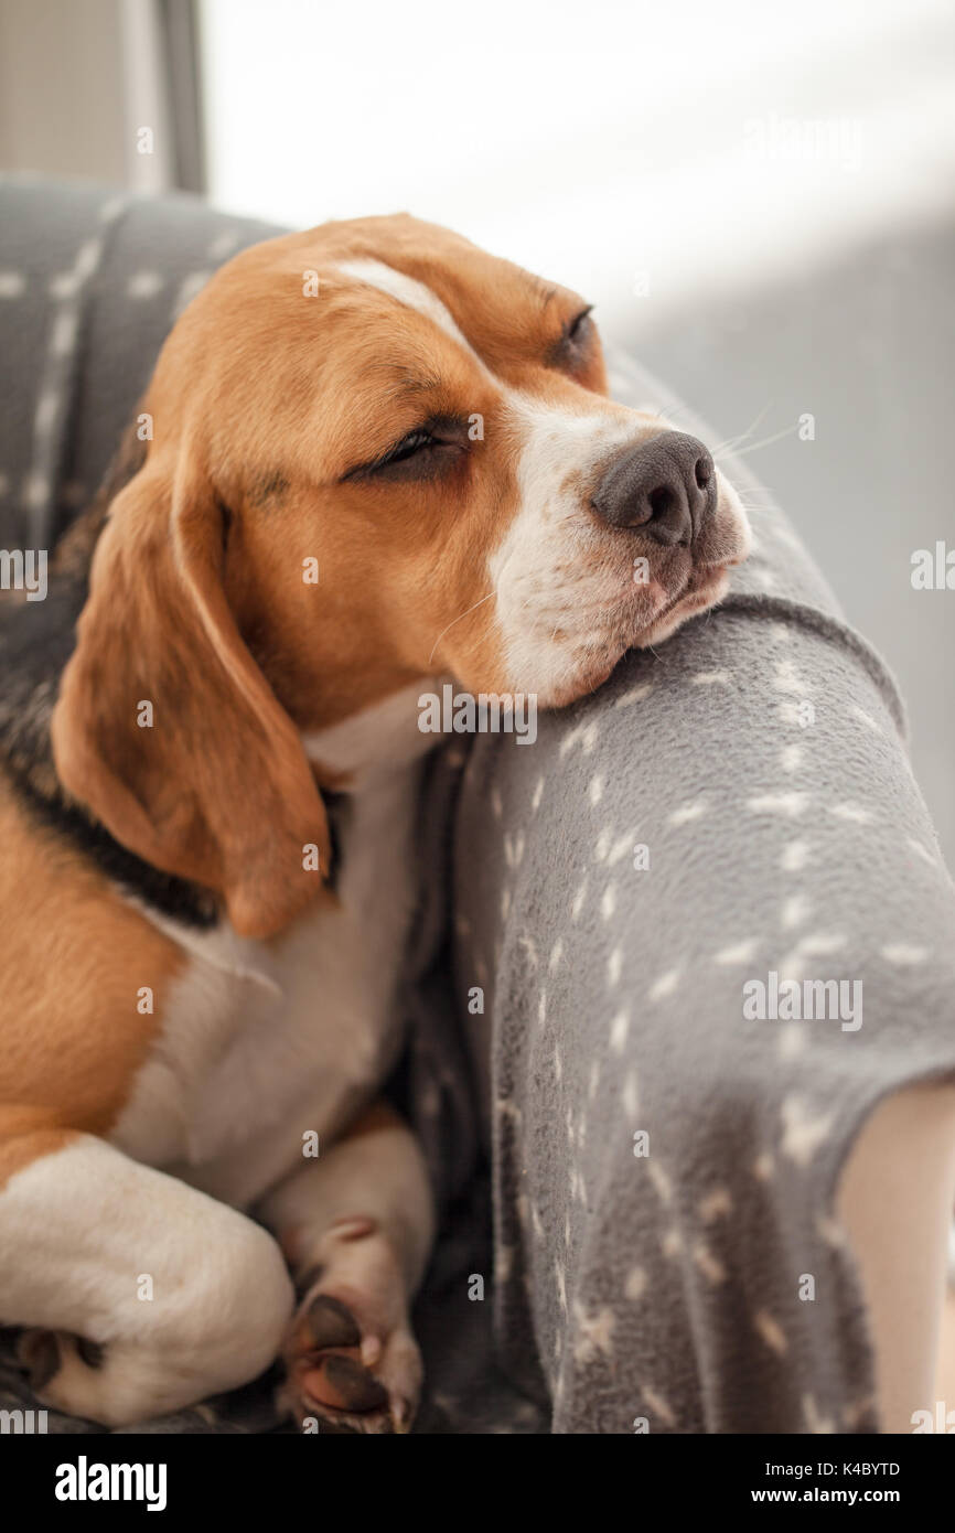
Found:
[[175, 932], [189, 952], [152, 1056], [112, 1133], [120, 1148], [247, 1205], [336, 1134], [400, 1044], [395, 984], [417, 895], [412, 869], [420, 688], [305, 742], [354, 776], [340, 828], [339, 908], [271, 943]]

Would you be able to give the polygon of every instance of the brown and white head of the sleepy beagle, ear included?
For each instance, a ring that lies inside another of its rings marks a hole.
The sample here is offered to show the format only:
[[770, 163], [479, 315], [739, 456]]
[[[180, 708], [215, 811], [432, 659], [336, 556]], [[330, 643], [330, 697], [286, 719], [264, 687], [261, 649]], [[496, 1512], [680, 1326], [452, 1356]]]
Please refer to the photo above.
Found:
[[313, 892], [302, 846], [327, 851], [304, 731], [428, 675], [563, 705], [748, 549], [702, 443], [607, 399], [581, 297], [403, 215], [236, 256], [141, 419], [57, 765], [245, 932], [282, 926]]

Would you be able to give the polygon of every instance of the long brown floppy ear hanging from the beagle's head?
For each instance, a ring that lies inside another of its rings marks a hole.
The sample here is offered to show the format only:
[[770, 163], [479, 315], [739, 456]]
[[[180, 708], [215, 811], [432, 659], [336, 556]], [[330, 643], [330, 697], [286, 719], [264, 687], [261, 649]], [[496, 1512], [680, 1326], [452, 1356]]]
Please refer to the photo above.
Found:
[[[112, 835], [268, 937], [328, 871], [299, 734], [222, 586], [224, 509], [195, 463], [150, 461], [110, 507], [54, 710], [57, 771]], [[320, 872], [314, 871], [317, 848]]]

